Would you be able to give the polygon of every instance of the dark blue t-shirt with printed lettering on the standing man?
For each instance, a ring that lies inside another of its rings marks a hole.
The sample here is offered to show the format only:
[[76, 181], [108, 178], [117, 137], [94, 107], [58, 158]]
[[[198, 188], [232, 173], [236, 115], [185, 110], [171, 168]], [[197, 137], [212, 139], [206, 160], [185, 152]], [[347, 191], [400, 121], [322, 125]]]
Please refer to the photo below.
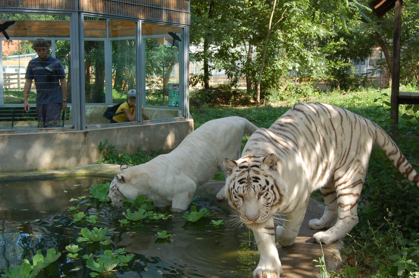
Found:
[[45, 61], [38, 58], [29, 61], [26, 79], [35, 81], [36, 103], [61, 103], [61, 86], [59, 79], [65, 77], [64, 68], [60, 60], [49, 56]]

